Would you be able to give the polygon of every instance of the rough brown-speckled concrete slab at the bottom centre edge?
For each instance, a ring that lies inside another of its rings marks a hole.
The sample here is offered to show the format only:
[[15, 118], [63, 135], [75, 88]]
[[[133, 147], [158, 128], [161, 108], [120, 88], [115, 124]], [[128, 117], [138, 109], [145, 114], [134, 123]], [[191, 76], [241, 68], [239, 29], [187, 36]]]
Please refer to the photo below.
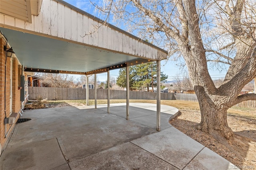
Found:
[[130, 142], [69, 162], [69, 165], [75, 170], [178, 170]]

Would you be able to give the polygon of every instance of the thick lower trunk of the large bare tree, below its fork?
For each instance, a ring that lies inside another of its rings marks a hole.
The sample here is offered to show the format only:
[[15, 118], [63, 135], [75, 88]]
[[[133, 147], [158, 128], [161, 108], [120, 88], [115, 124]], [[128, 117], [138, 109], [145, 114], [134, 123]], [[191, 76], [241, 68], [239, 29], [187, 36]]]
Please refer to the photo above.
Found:
[[234, 135], [227, 122], [227, 96], [208, 95], [203, 87], [195, 87], [201, 111], [199, 130], [212, 134], [215, 138], [224, 136], [226, 139]]

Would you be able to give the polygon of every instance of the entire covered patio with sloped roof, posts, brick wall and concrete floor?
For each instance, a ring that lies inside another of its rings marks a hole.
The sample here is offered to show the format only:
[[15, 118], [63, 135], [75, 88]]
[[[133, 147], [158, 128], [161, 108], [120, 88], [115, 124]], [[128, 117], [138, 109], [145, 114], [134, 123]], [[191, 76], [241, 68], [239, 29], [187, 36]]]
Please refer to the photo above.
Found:
[[[230, 168], [227, 160], [168, 123], [178, 110], [160, 105], [160, 61], [167, 51], [103, 22], [62, 0], [1, 1], [0, 73], [9, 81], [0, 81], [0, 168]], [[15, 54], [7, 56], [11, 47]], [[31, 110], [22, 117], [31, 121], [8, 123], [13, 113], [22, 112], [26, 82], [22, 86], [19, 77], [27, 71], [80, 74], [87, 80], [108, 72], [109, 79], [111, 69], [126, 67], [128, 77], [131, 65], [151, 61], [157, 63], [156, 105], [130, 105], [127, 79], [122, 105], [110, 106], [108, 83], [107, 105], [97, 105], [95, 97], [95, 106]]]

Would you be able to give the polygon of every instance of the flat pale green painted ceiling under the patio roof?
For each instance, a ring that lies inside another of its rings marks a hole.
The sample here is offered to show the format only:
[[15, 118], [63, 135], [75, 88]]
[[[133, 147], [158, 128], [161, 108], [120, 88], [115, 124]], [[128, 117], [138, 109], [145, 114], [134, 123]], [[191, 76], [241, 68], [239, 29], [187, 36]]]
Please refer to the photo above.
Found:
[[88, 72], [141, 59], [65, 40], [0, 28], [24, 67]]

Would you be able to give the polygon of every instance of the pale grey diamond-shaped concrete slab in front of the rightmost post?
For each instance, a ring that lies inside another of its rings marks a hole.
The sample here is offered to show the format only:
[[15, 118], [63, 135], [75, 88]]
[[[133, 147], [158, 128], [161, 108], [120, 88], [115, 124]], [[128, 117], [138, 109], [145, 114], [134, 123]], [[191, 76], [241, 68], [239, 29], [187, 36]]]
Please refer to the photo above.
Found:
[[131, 142], [179, 169], [183, 169], [204, 148], [174, 127]]

